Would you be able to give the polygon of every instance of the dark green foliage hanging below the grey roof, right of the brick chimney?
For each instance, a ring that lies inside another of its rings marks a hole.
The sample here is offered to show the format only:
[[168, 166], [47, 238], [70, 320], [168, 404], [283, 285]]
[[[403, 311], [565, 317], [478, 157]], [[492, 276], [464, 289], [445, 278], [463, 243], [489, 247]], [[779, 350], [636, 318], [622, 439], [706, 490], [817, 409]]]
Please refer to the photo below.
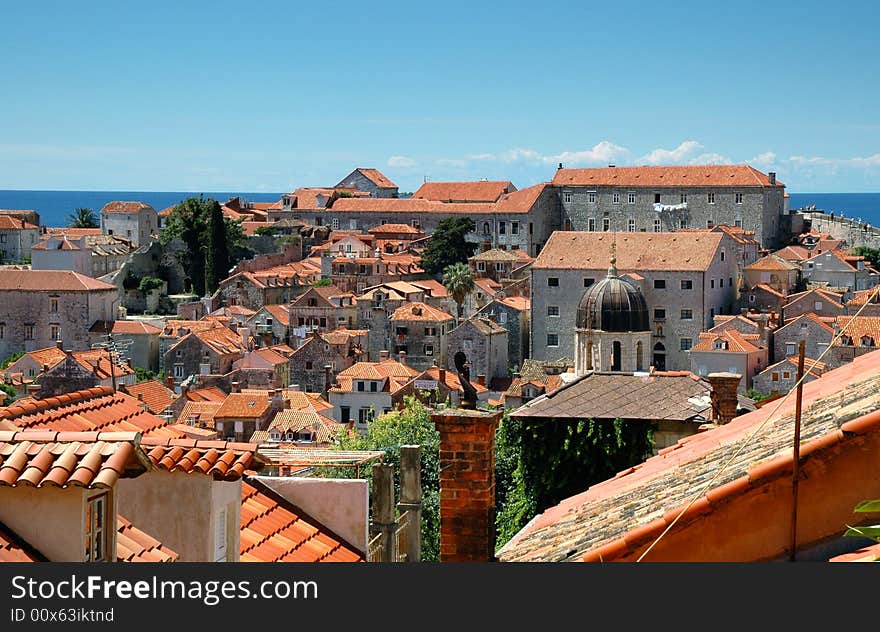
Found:
[[538, 513], [651, 455], [649, 422], [523, 421], [505, 416], [496, 439], [496, 545]]

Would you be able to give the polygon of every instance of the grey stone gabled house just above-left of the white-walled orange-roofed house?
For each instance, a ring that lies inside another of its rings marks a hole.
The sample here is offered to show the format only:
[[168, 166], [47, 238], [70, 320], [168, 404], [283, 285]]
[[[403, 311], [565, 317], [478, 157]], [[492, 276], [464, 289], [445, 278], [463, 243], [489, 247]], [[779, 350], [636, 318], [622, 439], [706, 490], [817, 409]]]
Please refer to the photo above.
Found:
[[290, 384], [309, 393], [322, 393], [334, 377], [361, 360], [363, 352], [352, 336], [313, 331], [290, 356]]

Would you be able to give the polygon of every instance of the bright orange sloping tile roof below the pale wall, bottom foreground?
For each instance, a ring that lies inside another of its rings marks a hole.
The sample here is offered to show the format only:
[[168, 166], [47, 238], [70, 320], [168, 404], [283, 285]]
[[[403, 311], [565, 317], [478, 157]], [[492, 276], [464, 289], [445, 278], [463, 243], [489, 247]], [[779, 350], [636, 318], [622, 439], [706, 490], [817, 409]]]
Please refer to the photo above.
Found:
[[363, 562], [364, 557], [260, 481], [241, 485], [242, 562]]

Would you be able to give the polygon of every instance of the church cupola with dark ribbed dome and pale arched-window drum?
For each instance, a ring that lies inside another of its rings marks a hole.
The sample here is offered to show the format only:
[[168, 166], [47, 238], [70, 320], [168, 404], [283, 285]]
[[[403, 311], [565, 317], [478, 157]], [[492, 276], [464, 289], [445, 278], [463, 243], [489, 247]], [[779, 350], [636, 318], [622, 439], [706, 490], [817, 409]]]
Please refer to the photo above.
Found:
[[584, 292], [575, 320], [574, 366], [588, 371], [646, 371], [651, 347], [648, 305], [638, 288], [617, 273], [612, 255], [608, 275]]

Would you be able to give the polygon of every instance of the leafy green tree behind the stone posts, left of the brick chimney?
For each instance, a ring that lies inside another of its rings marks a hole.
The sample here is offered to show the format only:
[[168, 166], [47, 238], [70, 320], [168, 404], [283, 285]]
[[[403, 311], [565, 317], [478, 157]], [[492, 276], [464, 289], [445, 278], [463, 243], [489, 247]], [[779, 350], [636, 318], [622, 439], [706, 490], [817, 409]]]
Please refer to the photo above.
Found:
[[[404, 407], [370, 422], [367, 434], [337, 436], [341, 450], [385, 450], [385, 463], [394, 466], [395, 494], [400, 497], [400, 446], [422, 446], [422, 560], [440, 559], [440, 433], [431, 415], [415, 396]], [[338, 476], [338, 474], [334, 474]], [[369, 472], [362, 473], [364, 478]]]

